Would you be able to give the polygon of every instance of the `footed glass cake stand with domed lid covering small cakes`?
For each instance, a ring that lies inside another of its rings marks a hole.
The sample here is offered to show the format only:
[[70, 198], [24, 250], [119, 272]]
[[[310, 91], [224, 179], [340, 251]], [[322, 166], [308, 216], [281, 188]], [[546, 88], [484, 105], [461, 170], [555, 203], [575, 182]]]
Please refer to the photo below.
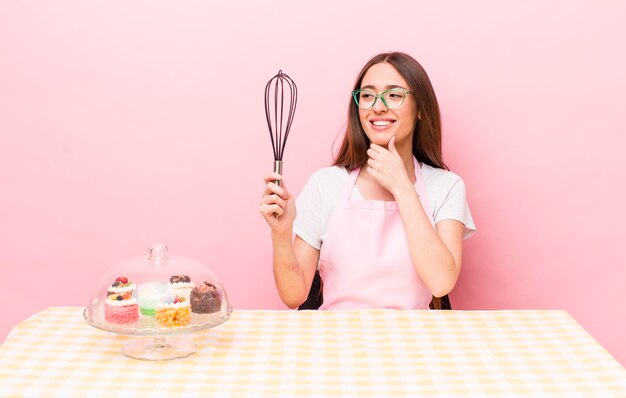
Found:
[[180, 358], [197, 350], [172, 335], [205, 330], [230, 317], [226, 290], [205, 264], [168, 255], [154, 244], [148, 256], [122, 261], [99, 279], [83, 315], [108, 332], [155, 336], [133, 341], [122, 352], [149, 360]]

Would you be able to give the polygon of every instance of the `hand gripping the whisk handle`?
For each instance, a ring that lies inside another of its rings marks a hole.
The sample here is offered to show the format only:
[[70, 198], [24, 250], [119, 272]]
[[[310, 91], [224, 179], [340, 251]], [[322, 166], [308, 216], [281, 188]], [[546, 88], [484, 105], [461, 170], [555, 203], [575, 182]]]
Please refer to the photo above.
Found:
[[[274, 181], [280, 181], [276, 185]], [[296, 219], [296, 205], [293, 196], [287, 191], [285, 181], [278, 173], [265, 176], [265, 190], [261, 198], [261, 215], [272, 228], [272, 233], [283, 234], [291, 231]]]

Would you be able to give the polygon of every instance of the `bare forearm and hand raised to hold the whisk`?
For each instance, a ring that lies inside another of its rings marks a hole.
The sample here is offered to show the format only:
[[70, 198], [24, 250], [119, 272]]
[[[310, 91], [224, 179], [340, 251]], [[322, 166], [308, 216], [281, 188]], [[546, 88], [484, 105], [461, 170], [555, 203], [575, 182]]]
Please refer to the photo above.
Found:
[[289, 308], [296, 308], [308, 297], [317, 269], [319, 250], [298, 236], [292, 242], [293, 221], [296, 218], [294, 199], [284, 182], [280, 187], [273, 182], [275, 180], [282, 180], [282, 177], [273, 173], [265, 178], [260, 210], [272, 229], [276, 289]]

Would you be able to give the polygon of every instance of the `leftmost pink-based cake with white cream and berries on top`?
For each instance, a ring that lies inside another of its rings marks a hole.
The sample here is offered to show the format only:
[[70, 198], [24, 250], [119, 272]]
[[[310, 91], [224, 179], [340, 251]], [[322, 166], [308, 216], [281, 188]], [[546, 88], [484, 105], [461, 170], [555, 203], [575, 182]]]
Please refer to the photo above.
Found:
[[139, 318], [137, 299], [133, 297], [135, 284], [120, 276], [107, 289], [104, 320], [111, 323], [132, 323]]

